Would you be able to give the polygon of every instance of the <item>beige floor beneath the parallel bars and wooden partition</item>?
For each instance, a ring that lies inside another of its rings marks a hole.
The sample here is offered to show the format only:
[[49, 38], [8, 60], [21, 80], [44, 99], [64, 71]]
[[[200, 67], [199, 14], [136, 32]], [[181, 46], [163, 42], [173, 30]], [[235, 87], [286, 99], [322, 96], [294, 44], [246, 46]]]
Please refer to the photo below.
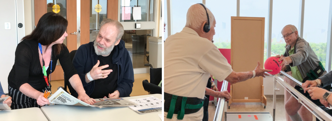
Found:
[[[264, 104], [259, 102], [246, 102], [246, 103], [232, 103], [230, 109], [227, 108], [227, 112], [270, 112], [273, 116], [273, 95], [265, 95], [267, 98], [266, 108], [264, 109]], [[276, 120], [275, 121], [286, 121], [286, 110], [284, 104], [284, 95], [277, 95], [276, 103]], [[227, 104], [228, 105], [228, 104]], [[208, 107], [209, 121], [213, 121], [215, 106], [211, 102]], [[313, 121], [315, 121], [315, 116]], [[224, 120], [224, 117], [222, 118]]]

